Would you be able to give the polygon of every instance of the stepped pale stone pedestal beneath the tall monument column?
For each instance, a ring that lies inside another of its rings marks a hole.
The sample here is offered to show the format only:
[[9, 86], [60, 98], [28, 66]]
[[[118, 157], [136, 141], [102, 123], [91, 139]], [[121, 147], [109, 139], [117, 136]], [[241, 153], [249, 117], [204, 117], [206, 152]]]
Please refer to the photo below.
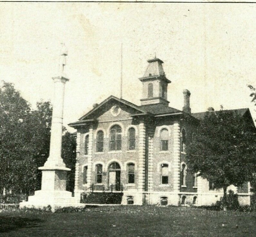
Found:
[[52, 211], [56, 207], [75, 206], [75, 198], [72, 193], [66, 191], [67, 172], [70, 171], [66, 167], [39, 167], [42, 170], [42, 187], [41, 190], [35, 191], [34, 196], [29, 196], [27, 202], [21, 202], [20, 207], [43, 208], [52, 207]]

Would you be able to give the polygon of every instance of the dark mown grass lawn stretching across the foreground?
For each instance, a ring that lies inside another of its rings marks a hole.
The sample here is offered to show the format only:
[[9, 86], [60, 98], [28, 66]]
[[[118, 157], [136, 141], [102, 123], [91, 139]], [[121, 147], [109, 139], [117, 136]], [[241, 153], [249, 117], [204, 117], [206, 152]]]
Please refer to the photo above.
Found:
[[2, 210], [0, 236], [256, 236], [256, 213], [155, 206]]

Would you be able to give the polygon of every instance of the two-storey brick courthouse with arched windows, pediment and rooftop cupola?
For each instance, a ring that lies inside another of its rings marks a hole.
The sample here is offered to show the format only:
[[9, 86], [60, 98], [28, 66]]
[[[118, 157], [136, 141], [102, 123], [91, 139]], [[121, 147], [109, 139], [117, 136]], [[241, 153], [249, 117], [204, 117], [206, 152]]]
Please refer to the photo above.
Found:
[[[184, 107], [169, 107], [170, 80], [163, 61], [148, 60], [141, 105], [110, 96], [69, 126], [77, 130], [75, 198], [94, 191], [122, 193], [122, 204], [211, 205], [223, 190], [191, 173], [186, 144], [204, 113], [191, 113], [190, 92]], [[253, 123], [249, 109], [234, 110]], [[250, 204], [250, 185], [230, 186], [240, 204]], [[93, 200], [91, 200], [93, 203]]]

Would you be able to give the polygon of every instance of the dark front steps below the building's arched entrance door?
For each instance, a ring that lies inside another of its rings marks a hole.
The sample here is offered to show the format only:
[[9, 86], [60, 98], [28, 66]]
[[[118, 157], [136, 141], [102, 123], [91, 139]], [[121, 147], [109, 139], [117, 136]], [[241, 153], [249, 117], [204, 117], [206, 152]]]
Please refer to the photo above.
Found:
[[121, 204], [122, 192], [91, 192], [81, 199], [86, 204]]

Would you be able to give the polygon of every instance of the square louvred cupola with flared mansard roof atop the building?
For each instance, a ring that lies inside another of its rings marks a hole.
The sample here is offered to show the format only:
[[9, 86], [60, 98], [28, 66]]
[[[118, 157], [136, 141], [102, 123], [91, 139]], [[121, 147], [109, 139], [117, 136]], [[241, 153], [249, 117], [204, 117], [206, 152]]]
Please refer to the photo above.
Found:
[[142, 82], [141, 105], [169, 104], [167, 101], [167, 86], [171, 81], [165, 76], [163, 61], [159, 58], [147, 60], [148, 66], [144, 76], [139, 78]]

